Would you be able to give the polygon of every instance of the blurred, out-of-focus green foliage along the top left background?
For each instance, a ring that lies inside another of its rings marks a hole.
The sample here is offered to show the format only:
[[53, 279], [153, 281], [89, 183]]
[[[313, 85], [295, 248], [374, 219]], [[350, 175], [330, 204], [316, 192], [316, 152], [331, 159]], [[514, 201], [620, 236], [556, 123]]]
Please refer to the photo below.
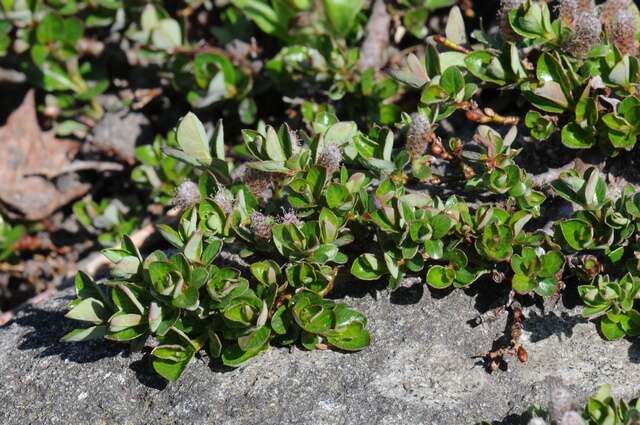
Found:
[[[137, 88], [115, 80], [150, 66], [162, 76], [145, 85], [161, 88], [153, 96], [224, 109], [244, 124], [256, 121], [256, 97], [266, 91], [303, 97], [307, 117], [348, 96], [357, 101], [337, 104], [343, 114], [391, 124], [400, 115], [388, 102], [399, 94], [398, 84], [358, 65], [365, 3], [7, 0], [0, 2], [0, 58], [10, 57], [10, 66], [47, 94], [43, 112], [61, 135], [86, 134], [104, 113], [99, 96]], [[454, 3], [403, 0], [396, 10], [422, 38], [428, 15]], [[136, 96], [123, 101], [135, 107]]]

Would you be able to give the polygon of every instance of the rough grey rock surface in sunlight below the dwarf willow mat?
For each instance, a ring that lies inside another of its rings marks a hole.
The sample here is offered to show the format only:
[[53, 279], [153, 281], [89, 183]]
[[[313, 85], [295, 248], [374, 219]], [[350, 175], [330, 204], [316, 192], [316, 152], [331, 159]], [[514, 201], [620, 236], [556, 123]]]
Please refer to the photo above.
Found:
[[[606, 342], [574, 309], [525, 310], [529, 362], [492, 375], [471, 356], [504, 334], [506, 317], [472, 328], [488, 306], [473, 293], [421, 285], [350, 297], [370, 319], [360, 353], [271, 349], [236, 370], [206, 357], [176, 383], [142, 353], [109, 342], [63, 344], [66, 290], [0, 328], [0, 423], [9, 424], [516, 424], [558, 379], [585, 397], [611, 383], [640, 395], [640, 343]], [[498, 422], [499, 421], [499, 422]]]

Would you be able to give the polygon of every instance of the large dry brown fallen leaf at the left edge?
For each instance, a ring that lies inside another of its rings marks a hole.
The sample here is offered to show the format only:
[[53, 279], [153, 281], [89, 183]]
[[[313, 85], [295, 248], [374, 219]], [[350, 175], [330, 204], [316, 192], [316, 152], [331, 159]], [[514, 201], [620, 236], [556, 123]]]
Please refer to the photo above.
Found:
[[[57, 139], [38, 125], [33, 90], [0, 128], [0, 203], [10, 215], [42, 220], [89, 191], [90, 185], [69, 179], [49, 180], [67, 173], [80, 149], [74, 140]], [[59, 182], [60, 183], [60, 182]]]

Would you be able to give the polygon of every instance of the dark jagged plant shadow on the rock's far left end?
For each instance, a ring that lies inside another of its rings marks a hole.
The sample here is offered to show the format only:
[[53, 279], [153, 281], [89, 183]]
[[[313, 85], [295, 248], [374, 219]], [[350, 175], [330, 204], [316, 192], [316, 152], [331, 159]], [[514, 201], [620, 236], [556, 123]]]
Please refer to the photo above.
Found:
[[36, 357], [58, 356], [62, 360], [75, 363], [91, 363], [125, 352], [123, 346], [106, 340], [61, 342], [60, 338], [78, 327], [78, 322], [74, 324], [65, 318], [62, 311], [47, 311], [28, 306], [13, 323], [32, 328], [24, 334], [18, 349], [39, 350], [34, 353]]

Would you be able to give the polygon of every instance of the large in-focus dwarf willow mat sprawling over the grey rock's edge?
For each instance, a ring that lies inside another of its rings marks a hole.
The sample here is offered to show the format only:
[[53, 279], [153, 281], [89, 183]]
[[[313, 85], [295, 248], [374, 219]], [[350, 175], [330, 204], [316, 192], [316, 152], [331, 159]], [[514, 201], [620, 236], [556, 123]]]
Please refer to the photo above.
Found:
[[[497, 271], [507, 273], [517, 293], [543, 297], [560, 291], [564, 272], [597, 275], [580, 287], [585, 314], [605, 315], [608, 338], [640, 333], [638, 195], [614, 203], [595, 169], [567, 173], [554, 189], [583, 209], [559, 221], [553, 234], [529, 231], [544, 195], [513, 164], [513, 131], [504, 139], [480, 127], [485, 146], [475, 156], [461, 154], [485, 162], [473, 187], [518, 195], [473, 209], [456, 196], [442, 200], [412, 190], [410, 179], [420, 179], [389, 130], [364, 134], [352, 122], [326, 118], [312, 135], [287, 126], [245, 130], [251, 160], [237, 165], [225, 156], [221, 124], [210, 140], [195, 115], [185, 116], [178, 148], [167, 152], [197, 168], [200, 178], [177, 191], [184, 208], [177, 228], [160, 226], [174, 250], [143, 258], [127, 238], [105, 250], [115, 264], [112, 278], [98, 284], [79, 274], [78, 298], [67, 314], [91, 326], [64, 339], [143, 343], [153, 335], [160, 343], [152, 351], [154, 368], [173, 380], [201, 350], [238, 366], [270, 345], [364, 348], [367, 319], [325, 298], [338, 281], [386, 279], [393, 289], [405, 276], [423, 274], [434, 288], [461, 288]], [[266, 185], [232, 177], [243, 167], [244, 175], [268, 184], [269, 197]], [[516, 169], [501, 171], [510, 167]], [[249, 263], [224, 260], [225, 245]], [[609, 264], [630, 272], [620, 279], [601, 275]]]

